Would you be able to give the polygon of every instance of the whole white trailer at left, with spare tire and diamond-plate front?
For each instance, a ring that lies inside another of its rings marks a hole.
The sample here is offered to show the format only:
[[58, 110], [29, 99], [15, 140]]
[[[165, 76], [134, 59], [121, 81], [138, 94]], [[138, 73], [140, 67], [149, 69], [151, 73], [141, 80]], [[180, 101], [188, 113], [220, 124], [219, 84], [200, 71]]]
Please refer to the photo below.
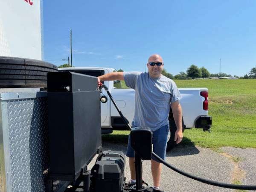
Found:
[[[43, 1], [0, 3], [0, 192], [44, 192], [49, 168]], [[40, 88], [39, 88], [40, 87]], [[68, 182], [54, 181], [54, 191]]]

